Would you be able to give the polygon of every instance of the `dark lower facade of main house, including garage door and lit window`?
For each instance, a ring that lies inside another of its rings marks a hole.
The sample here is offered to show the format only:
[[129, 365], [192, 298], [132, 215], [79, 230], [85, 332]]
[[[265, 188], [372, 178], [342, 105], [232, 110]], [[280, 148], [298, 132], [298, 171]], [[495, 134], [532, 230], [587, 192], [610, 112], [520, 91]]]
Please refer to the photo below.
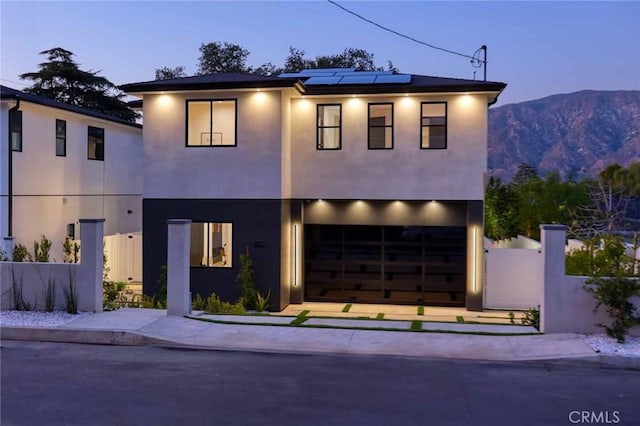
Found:
[[144, 199], [144, 293], [159, 291], [167, 220], [191, 219], [191, 292], [239, 297], [249, 253], [271, 309], [331, 301], [482, 309], [483, 203]]

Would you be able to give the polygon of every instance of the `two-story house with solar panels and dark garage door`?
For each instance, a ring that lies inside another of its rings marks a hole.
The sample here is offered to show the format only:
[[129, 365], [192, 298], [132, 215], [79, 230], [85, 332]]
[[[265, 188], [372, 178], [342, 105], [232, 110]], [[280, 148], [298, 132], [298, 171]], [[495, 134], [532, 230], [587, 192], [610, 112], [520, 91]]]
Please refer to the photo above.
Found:
[[487, 114], [504, 83], [352, 69], [127, 84], [143, 99], [143, 283], [191, 219], [191, 289], [272, 308], [482, 308]]

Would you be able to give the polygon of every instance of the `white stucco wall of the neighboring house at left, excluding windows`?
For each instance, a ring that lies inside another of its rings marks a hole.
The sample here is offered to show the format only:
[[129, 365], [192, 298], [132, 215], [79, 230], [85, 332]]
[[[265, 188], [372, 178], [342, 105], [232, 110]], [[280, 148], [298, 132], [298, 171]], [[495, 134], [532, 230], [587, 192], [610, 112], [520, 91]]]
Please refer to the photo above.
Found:
[[[81, 217], [105, 218], [105, 233], [142, 228], [142, 129], [21, 102], [22, 152], [13, 153], [13, 236], [33, 250], [52, 240], [61, 261], [66, 226]], [[3, 114], [3, 119], [6, 114]], [[55, 121], [66, 121], [66, 156], [55, 155]], [[87, 126], [105, 130], [104, 161], [87, 157]], [[131, 211], [131, 213], [128, 213]], [[3, 235], [6, 235], [3, 234]]]

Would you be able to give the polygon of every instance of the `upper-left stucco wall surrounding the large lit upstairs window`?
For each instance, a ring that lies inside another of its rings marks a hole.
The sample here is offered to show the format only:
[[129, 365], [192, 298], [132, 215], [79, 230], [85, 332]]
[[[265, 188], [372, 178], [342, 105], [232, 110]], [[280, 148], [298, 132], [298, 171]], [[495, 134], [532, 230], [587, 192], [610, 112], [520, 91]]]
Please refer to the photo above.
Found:
[[[186, 100], [237, 99], [237, 146], [186, 147]], [[145, 198], [280, 198], [280, 91], [144, 96]]]

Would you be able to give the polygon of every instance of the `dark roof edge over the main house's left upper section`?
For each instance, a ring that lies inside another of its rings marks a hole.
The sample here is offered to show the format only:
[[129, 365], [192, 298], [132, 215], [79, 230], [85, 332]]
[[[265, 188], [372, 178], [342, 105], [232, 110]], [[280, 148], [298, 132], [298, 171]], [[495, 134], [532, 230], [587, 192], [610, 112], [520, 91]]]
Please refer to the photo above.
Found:
[[202, 82], [186, 84], [166, 84], [162, 80], [157, 83], [131, 83], [118, 86], [118, 89], [127, 93], [164, 92], [164, 91], [188, 91], [188, 90], [220, 90], [220, 89], [262, 89], [272, 87], [294, 87], [298, 79], [282, 78], [278, 80], [263, 81], [236, 81], [230, 82]]

